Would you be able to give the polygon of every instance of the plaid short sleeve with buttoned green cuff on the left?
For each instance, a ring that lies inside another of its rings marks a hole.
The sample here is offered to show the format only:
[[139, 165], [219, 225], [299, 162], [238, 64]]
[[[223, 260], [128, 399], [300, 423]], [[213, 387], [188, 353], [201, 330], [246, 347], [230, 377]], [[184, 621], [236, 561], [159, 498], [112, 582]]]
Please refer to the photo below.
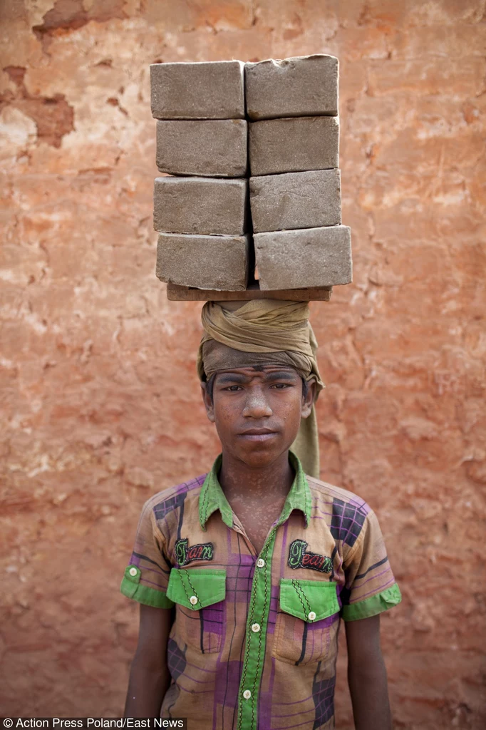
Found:
[[142, 508], [134, 551], [120, 584], [124, 596], [155, 608], [171, 608], [174, 605], [166, 596], [171, 564], [166, 557], [165, 547], [151, 498]]

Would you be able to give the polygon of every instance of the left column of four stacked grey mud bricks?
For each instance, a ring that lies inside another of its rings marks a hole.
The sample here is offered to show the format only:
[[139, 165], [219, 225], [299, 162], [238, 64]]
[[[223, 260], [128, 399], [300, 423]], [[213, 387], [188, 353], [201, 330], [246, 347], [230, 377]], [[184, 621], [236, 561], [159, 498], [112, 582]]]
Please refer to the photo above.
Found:
[[244, 64], [150, 66], [159, 279], [242, 291], [250, 275]]

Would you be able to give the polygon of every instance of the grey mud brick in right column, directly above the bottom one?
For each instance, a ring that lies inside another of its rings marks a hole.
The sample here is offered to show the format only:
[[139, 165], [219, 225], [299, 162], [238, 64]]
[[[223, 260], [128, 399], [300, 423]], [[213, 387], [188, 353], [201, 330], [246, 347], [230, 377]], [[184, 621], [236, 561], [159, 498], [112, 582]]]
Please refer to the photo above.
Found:
[[250, 178], [253, 231], [319, 228], [341, 223], [338, 169]]

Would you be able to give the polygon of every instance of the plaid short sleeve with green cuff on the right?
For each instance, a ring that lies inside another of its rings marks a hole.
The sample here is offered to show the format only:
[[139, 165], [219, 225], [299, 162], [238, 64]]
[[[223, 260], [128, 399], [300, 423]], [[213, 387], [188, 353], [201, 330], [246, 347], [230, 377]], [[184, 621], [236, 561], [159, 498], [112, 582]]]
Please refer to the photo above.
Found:
[[401, 593], [388, 561], [387, 549], [372, 510], [360, 536], [344, 556], [346, 586], [342, 591], [342, 618], [369, 618], [401, 602]]

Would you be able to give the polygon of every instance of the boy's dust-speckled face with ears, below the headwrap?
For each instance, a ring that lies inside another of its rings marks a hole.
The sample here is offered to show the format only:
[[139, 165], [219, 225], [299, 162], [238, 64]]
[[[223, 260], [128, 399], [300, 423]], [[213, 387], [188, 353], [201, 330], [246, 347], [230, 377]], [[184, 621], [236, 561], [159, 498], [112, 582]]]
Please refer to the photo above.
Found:
[[268, 466], [288, 450], [315, 398], [313, 381], [303, 396], [298, 372], [280, 365], [218, 372], [212, 400], [204, 383], [202, 388], [223, 453], [254, 468]]

